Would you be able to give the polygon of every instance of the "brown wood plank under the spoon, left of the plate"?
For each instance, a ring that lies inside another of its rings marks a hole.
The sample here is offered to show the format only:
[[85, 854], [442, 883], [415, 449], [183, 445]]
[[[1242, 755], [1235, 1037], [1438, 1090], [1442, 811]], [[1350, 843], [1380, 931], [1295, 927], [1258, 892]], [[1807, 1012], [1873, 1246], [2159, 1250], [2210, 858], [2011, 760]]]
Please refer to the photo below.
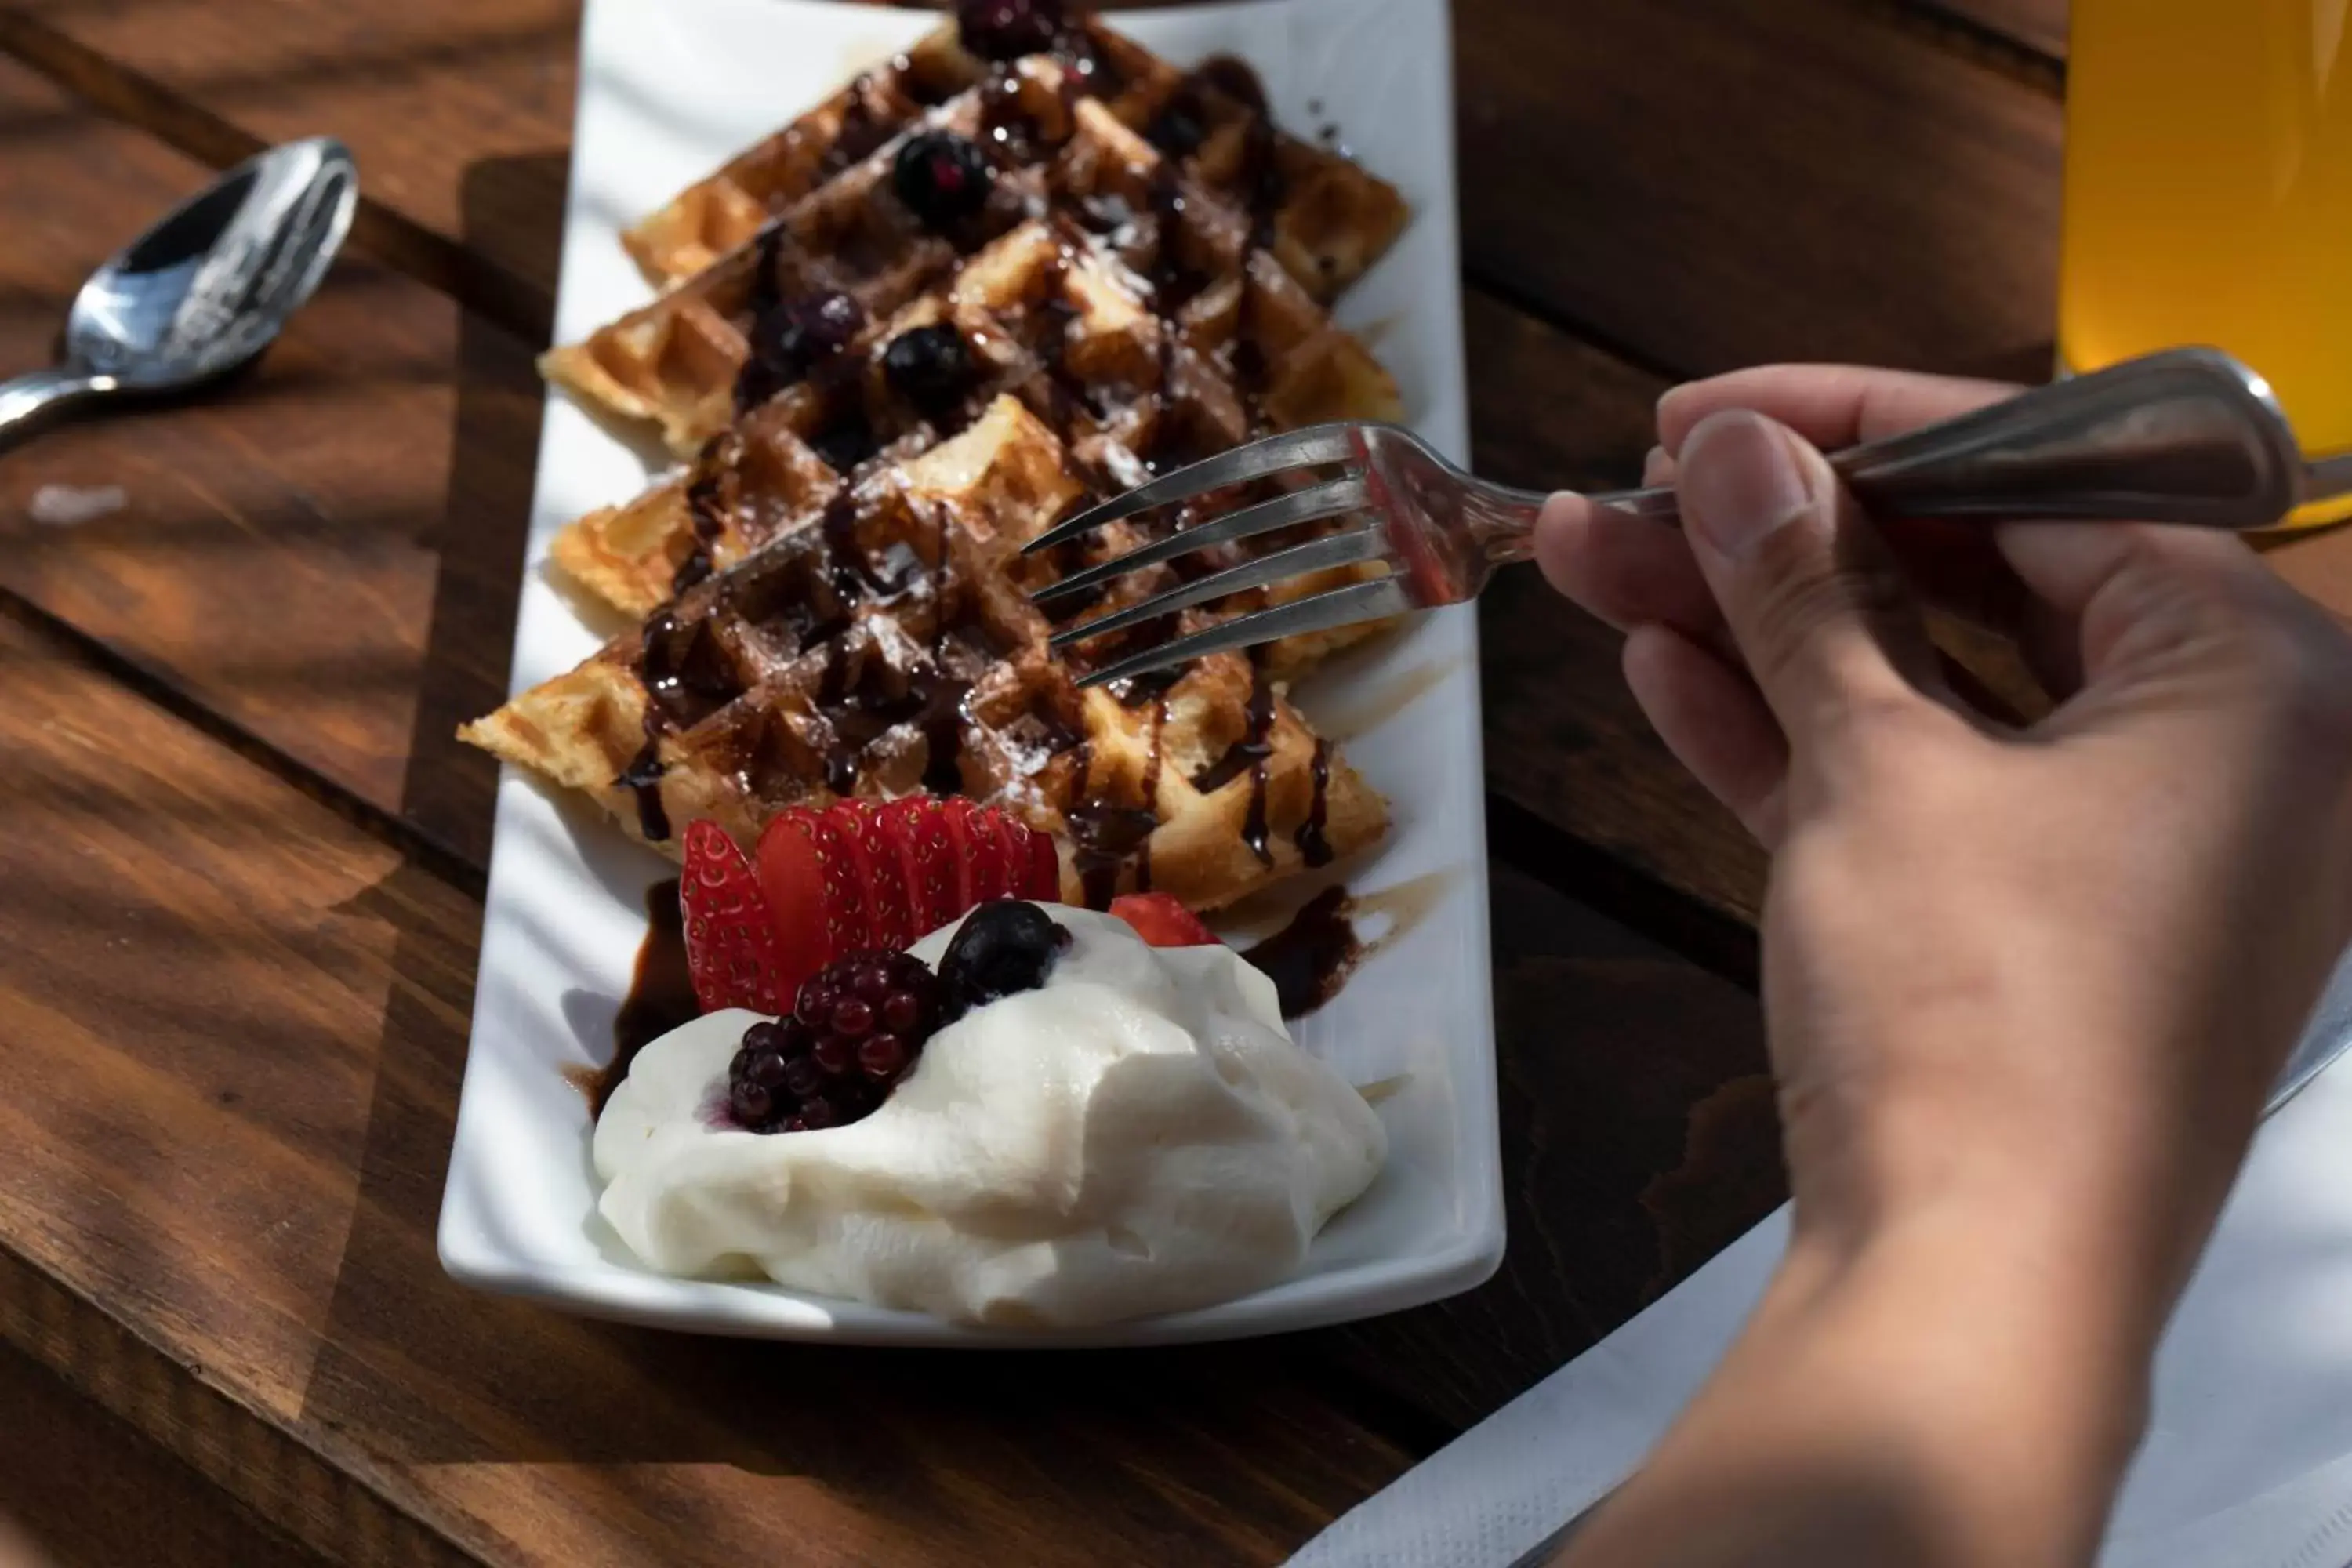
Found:
[[[0, 125], [0, 364], [28, 367], [209, 174], [7, 59]], [[517, 339], [350, 256], [238, 386], [0, 456], [0, 590], [480, 863], [494, 769], [452, 729], [506, 691], [536, 428]]]

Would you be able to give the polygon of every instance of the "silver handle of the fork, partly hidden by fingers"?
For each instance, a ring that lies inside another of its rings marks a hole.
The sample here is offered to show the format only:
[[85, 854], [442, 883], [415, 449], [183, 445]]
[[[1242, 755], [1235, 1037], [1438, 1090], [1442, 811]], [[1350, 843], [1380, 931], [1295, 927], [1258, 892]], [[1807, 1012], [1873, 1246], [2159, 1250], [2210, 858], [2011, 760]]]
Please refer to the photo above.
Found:
[[[2089, 517], [2265, 529], [2305, 498], [2270, 386], [2213, 348], [2169, 348], [1830, 458], [1882, 517]], [[1672, 489], [1595, 501], [1679, 517]]]

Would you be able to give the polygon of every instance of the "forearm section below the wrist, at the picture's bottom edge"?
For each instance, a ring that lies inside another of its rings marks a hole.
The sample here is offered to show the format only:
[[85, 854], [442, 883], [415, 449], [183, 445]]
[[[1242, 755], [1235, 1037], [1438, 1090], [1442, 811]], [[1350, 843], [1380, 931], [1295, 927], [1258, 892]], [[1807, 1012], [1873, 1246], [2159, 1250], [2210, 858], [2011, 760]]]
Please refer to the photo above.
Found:
[[2032, 1227], [1912, 1213], [1853, 1246], [1799, 1204], [1724, 1366], [1569, 1561], [2084, 1563], [2150, 1345], [2126, 1293]]

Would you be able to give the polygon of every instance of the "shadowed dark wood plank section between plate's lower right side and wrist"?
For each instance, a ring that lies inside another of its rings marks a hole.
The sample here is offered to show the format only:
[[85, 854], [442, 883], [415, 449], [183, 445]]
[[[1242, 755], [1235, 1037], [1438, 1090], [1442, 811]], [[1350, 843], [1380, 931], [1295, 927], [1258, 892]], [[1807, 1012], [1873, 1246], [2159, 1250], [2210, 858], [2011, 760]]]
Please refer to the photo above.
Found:
[[1755, 997], [1496, 867], [1510, 1255], [1484, 1288], [1345, 1331], [1468, 1425], [1588, 1349], [1785, 1197]]

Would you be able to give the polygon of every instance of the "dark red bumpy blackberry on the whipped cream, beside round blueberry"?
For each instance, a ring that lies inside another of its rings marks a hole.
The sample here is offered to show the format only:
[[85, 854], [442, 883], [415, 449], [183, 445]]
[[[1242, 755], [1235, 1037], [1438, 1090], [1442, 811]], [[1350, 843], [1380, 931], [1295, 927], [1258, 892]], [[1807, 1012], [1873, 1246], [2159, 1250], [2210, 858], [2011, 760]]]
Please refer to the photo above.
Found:
[[743, 1030], [727, 1110], [753, 1133], [809, 1133], [882, 1107], [946, 1023], [946, 994], [910, 952], [854, 952], [809, 976], [790, 1018]]

